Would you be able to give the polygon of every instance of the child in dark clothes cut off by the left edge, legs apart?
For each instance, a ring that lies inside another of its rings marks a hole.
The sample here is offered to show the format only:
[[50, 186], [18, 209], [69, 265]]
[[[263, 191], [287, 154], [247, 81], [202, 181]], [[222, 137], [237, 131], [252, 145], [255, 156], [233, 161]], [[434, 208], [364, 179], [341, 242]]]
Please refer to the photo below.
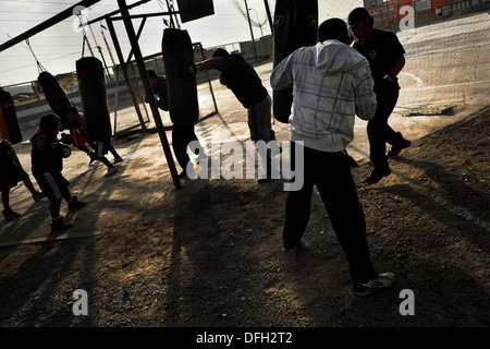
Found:
[[7, 140], [0, 142], [0, 191], [2, 192], [3, 217], [7, 220], [11, 220], [21, 216], [21, 214], [10, 207], [11, 188], [14, 188], [20, 181], [23, 181], [27, 190], [33, 194], [35, 202], [39, 202], [44, 195], [34, 189], [29, 174], [22, 168], [21, 161], [19, 161], [14, 149]]

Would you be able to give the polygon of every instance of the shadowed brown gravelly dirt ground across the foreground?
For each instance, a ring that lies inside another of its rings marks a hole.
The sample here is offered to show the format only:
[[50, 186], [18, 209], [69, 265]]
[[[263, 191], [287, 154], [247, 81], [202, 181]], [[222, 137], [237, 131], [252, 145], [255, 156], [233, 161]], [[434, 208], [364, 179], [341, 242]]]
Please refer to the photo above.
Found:
[[[74, 152], [64, 171], [88, 205], [63, 206], [66, 232], [50, 233], [48, 201], [12, 192], [24, 208], [0, 222], [0, 326], [488, 327], [489, 117], [486, 107], [414, 140], [377, 184], [363, 183], [366, 159], [353, 169], [375, 266], [396, 274], [367, 298], [351, 290], [317, 193], [302, 245], [284, 253], [283, 179], [185, 179], [175, 190], [155, 133], [114, 142], [124, 157], [114, 177]], [[77, 289], [86, 316], [73, 313]], [[405, 289], [414, 315], [399, 311]]]

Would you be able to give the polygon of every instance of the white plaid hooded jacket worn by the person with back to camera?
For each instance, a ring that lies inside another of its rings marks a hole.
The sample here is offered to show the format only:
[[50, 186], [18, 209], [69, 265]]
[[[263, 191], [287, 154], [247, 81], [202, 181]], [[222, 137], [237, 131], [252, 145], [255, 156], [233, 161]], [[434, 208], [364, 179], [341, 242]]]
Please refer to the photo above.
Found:
[[314, 149], [345, 149], [354, 140], [355, 115], [369, 120], [376, 112], [368, 61], [334, 39], [295, 50], [274, 68], [270, 84], [293, 86], [291, 141]]

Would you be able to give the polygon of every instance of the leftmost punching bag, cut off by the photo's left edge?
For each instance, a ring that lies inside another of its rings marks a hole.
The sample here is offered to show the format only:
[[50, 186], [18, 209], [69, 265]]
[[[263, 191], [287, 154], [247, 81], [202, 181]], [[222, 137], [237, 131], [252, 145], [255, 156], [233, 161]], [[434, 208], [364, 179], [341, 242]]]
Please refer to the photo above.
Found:
[[12, 96], [3, 88], [0, 88], [0, 134], [10, 144], [22, 142], [22, 130]]

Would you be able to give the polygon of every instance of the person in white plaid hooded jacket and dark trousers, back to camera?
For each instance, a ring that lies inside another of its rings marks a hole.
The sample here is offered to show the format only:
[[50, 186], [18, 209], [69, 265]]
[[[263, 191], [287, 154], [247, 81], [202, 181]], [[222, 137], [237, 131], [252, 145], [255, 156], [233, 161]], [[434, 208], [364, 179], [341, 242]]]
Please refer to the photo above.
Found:
[[392, 273], [378, 274], [372, 266], [364, 210], [345, 152], [354, 139], [355, 115], [364, 120], [375, 116], [373, 81], [366, 58], [348, 46], [345, 22], [324, 21], [318, 39], [316, 46], [286, 57], [270, 77], [274, 89], [293, 86], [290, 139], [295, 146], [301, 146], [295, 142], [304, 145], [304, 185], [287, 194], [283, 244], [292, 250], [302, 239], [315, 184], [347, 255], [354, 291], [367, 296], [394, 282]]

